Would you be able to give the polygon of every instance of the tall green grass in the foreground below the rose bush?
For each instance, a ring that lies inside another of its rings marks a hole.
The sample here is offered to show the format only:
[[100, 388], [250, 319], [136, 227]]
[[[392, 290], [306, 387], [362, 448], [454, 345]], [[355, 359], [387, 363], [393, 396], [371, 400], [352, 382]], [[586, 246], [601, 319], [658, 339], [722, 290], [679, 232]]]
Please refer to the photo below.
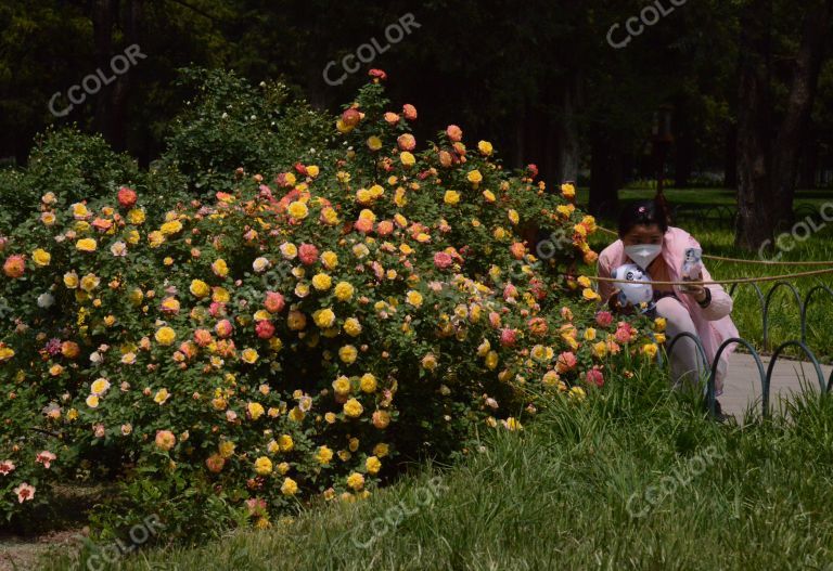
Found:
[[556, 398], [523, 431], [357, 504], [120, 569], [833, 569], [833, 400], [793, 405], [791, 423], [720, 426], [651, 377]]

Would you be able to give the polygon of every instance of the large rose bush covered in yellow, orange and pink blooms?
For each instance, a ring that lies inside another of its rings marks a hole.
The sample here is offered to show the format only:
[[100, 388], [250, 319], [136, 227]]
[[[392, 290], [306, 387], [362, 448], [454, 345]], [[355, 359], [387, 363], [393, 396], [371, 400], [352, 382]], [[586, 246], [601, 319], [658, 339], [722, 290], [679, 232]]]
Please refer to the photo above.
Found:
[[[233, 192], [162, 219], [129, 187], [61, 207], [44, 181], [2, 238], [7, 518], [86, 478], [121, 483], [105, 529], [266, 527], [653, 358], [648, 324], [599, 311], [577, 274], [595, 224], [575, 190], [505, 171], [457, 126], [420, 144], [380, 79], [320, 163], [238, 169]], [[571, 236], [547, 263], [523, 238], [536, 225]]]

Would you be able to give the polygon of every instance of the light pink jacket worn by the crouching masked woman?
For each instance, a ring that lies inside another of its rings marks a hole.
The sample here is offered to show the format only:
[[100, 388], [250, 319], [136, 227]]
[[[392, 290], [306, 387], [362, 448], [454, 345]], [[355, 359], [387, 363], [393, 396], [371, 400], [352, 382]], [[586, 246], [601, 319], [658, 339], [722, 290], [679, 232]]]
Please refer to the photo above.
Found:
[[[680, 281], [680, 269], [682, 268], [685, 249], [700, 247], [697, 241], [684, 230], [679, 228], [668, 229], [668, 232], [663, 236], [662, 256], [668, 267], [670, 282]], [[625, 245], [620, 239], [617, 239], [599, 255], [599, 276], [611, 277], [616, 268], [624, 263], [630, 263], [630, 259], [625, 254]], [[703, 281], [712, 281], [712, 275], [705, 267], [703, 268]], [[599, 282], [599, 294], [602, 296], [603, 301], [606, 302], [610, 299], [616, 289], [615, 286], [616, 284]], [[710, 285], [706, 287], [712, 290], [712, 303], [706, 309], [701, 308], [691, 296], [678, 295], [677, 297], [685, 309], [689, 310], [691, 321], [697, 329], [697, 336], [703, 342], [706, 359], [708, 359], [710, 364], [715, 360], [715, 354], [720, 343], [732, 337], [739, 337], [739, 334], [732, 319], [729, 316], [732, 312], [731, 296], [726, 293], [722, 286]], [[722, 392], [729, 354], [735, 347], [734, 345], [727, 347], [720, 355], [717, 378], [715, 379], [717, 394]]]

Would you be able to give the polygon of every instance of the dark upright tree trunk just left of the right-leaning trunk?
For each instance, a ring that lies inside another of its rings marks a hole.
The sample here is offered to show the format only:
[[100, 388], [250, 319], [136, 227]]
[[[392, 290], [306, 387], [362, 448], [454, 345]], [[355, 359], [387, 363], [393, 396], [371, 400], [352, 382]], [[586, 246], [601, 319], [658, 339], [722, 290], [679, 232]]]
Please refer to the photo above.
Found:
[[752, 0], [741, 16], [735, 245], [757, 250], [774, 235], [770, 184], [770, 0]]

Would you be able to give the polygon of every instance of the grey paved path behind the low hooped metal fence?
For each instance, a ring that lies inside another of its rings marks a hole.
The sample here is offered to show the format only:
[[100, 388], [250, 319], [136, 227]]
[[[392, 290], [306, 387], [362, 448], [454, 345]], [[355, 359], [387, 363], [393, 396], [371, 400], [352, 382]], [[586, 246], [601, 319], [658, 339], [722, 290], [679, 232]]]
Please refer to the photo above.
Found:
[[[762, 356], [764, 373], [769, 366], [769, 358]], [[821, 365], [824, 381], [830, 378], [833, 367]], [[789, 399], [791, 393], [800, 392], [804, 387], [819, 390], [816, 368], [809, 362], [787, 361], [779, 359], [772, 373], [769, 403], [774, 413], [779, 410], [779, 401]], [[723, 394], [719, 398], [723, 413], [732, 414], [738, 419], [743, 418], [743, 413], [748, 406], [755, 406], [760, 413], [760, 375], [752, 355], [732, 353], [729, 358], [729, 372], [723, 384]]]

